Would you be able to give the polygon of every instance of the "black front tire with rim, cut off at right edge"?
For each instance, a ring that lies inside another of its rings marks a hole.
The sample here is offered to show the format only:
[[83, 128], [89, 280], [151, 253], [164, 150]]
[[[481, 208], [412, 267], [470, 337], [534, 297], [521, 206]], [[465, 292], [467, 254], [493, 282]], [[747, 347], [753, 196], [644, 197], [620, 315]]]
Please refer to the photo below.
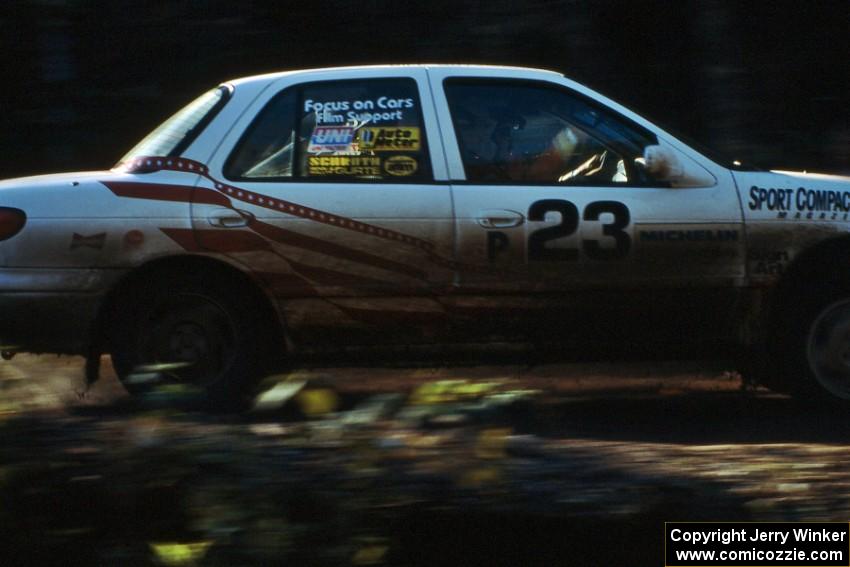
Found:
[[787, 309], [768, 350], [768, 386], [850, 408], [850, 288], [813, 287]]

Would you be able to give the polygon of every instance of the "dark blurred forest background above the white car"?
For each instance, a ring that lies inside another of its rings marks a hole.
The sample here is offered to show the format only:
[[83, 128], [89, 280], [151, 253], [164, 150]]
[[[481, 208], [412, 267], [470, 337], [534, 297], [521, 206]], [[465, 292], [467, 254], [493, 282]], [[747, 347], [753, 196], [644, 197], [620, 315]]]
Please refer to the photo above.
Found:
[[769, 168], [850, 173], [847, 2], [7, 1], [0, 177], [107, 168], [229, 78], [359, 63], [551, 68]]

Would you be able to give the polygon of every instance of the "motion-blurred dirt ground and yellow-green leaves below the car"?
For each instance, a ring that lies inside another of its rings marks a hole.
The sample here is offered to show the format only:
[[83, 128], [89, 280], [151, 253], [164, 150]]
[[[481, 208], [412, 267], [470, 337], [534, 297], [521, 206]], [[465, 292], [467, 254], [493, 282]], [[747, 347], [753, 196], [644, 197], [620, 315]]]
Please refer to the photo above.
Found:
[[850, 513], [846, 412], [704, 365], [320, 369], [224, 418], [81, 367], [0, 363], [0, 564], [658, 565], [665, 520]]

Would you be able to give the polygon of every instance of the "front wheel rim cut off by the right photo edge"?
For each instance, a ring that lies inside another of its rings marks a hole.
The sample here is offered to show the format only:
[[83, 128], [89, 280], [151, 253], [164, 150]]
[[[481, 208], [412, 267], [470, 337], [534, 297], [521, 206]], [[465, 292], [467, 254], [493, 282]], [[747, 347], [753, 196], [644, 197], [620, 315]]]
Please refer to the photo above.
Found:
[[821, 311], [809, 331], [807, 355], [820, 385], [850, 399], [850, 299]]

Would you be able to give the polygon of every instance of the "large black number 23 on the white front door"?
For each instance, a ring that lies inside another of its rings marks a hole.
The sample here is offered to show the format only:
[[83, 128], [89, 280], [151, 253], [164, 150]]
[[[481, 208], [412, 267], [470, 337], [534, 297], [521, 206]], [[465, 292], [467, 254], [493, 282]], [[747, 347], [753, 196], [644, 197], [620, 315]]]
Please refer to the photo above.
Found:
[[[561, 199], [543, 199], [531, 204], [528, 209], [529, 221], [543, 221], [546, 213], [561, 215], [561, 222], [555, 226], [541, 228], [528, 237], [528, 259], [532, 262], [576, 261], [578, 248], [546, 248], [550, 240], [575, 234], [579, 226], [579, 211], [574, 203]], [[616, 260], [629, 253], [632, 239], [624, 230], [629, 226], [629, 209], [617, 201], [594, 201], [584, 208], [582, 220], [598, 221], [603, 213], [613, 215], [614, 221], [602, 225], [602, 234], [614, 239], [613, 248], [603, 248], [598, 240], [582, 240], [582, 250], [593, 260]]]

